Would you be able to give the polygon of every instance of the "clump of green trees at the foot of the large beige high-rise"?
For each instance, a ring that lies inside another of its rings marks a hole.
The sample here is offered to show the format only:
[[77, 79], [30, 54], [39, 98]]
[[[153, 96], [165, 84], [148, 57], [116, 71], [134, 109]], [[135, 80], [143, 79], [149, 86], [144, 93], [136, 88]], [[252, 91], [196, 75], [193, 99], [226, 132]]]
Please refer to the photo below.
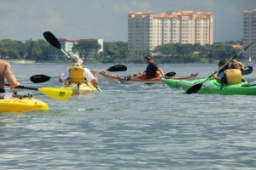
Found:
[[[230, 42], [241, 44], [241, 42]], [[161, 60], [166, 62], [214, 62], [235, 56], [240, 49], [233, 48], [230, 43], [216, 42], [212, 45], [168, 43], [154, 48]]]

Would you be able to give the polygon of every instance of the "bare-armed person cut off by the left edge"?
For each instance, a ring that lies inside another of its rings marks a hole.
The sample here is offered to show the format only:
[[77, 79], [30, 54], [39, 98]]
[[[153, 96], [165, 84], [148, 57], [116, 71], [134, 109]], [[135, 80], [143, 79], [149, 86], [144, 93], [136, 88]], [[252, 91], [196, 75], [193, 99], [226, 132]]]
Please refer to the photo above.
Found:
[[0, 59], [0, 93], [5, 93], [4, 89], [4, 78], [9, 83], [9, 87], [15, 88], [20, 85], [15, 75], [11, 71], [11, 65], [5, 59]]

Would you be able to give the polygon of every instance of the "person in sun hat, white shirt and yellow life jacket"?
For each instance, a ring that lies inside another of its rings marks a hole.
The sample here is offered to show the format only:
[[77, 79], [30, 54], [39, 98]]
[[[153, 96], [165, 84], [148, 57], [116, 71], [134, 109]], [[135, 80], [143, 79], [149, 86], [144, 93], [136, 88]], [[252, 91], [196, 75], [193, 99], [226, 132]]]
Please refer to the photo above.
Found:
[[88, 68], [84, 67], [83, 60], [80, 59], [78, 54], [73, 54], [71, 56], [72, 65], [59, 76], [59, 82], [64, 82], [68, 85], [69, 82], [87, 82], [97, 85], [97, 71], [90, 71]]

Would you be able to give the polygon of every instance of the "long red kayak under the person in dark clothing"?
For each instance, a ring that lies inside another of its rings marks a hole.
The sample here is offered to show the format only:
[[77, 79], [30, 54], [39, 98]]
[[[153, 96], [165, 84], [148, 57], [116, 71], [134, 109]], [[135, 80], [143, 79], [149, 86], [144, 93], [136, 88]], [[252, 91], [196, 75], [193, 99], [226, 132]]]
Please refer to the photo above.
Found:
[[[102, 75], [102, 77], [105, 78], [105, 80], [107, 82], [110, 83], [119, 83], [119, 82], [125, 82], [125, 83], [148, 83], [148, 84], [159, 84], [162, 83], [161, 82], [161, 78], [157, 77], [157, 78], [149, 78], [149, 79], [145, 79], [145, 78], [141, 78], [141, 77], [130, 77], [129, 80], [125, 80], [122, 81], [122, 78], [126, 78], [126, 77], [120, 77], [118, 75], [111, 75], [108, 74], [104, 71], [100, 71], [99, 72], [100, 75]], [[189, 77], [172, 77], [172, 79], [175, 80], [193, 80], [197, 77], [198, 73], [195, 74], [191, 74]]]

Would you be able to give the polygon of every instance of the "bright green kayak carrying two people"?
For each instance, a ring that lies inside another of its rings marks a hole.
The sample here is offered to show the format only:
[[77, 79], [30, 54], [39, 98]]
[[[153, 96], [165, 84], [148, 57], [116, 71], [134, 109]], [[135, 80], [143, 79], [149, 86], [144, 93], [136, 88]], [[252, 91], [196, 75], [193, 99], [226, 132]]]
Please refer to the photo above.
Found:
[[[204, 82], [206, 79], [195, 80], [174, 80], [174, 79], [161, 79], [170, 88], [183, 88], [185, 92], [195, 84]], [[238, 84], [224, 84], [221, 87], [221, 83], [213, 79], [212, 77], [204, 82], [201, 89], [197, 92], [199, 94], [241, 94], [241, 95], [255, 95], [256, 94], [256, 82], [241, 82]]]

